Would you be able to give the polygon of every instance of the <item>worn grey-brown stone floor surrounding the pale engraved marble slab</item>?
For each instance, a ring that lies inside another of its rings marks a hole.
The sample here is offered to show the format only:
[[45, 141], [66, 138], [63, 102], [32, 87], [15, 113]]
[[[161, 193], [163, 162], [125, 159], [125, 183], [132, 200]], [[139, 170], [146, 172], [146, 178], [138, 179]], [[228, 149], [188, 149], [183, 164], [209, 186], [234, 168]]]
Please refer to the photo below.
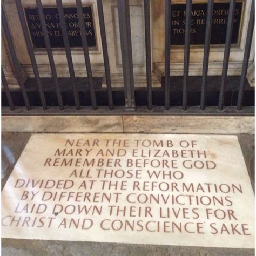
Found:
[[[3, 133], [2, 158], [6, 168], [2, 173], [2, 189], [28, 142], [31, 133]], [[239, 135], [248, 173], [254, 189], [254, 136]], [[8, 146], [8, 147], [6, 147]], [[8, 150], [8, 148], [10, 150]], [[2, 239], [2, 255], [254, 255], [254, 250], [188, 246], [134, 245], [76, 241], [45, 241]]]

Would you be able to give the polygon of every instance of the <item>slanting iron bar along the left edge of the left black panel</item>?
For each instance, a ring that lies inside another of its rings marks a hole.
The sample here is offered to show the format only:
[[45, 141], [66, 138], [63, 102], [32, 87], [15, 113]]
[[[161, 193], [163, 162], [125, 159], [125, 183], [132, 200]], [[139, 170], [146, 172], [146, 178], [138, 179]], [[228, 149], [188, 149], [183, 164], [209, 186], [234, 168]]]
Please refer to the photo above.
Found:
[[46, 105], [46, 101], [45, 101], [45, 97], [44, 97], [43, 86], [42, 86], [41, 79], [40, 79], [40, 76], [39, 76], [39, 71], [38, 71], [37, 63], [36, 63], [36, 58], [35, 58], [35, 55], [34, 55], [34, 52], [33, 52], [33, 46], [32, 46], [32, 43], [30, 41], [29, 31], [28, 31], [28, 27], [26, 25], [26, 20], [25, 20], [23, 9], [22, 9], [21, 0], [16, 0], [16, 5], [17, 5], [17, 9], [18, 9], [19, 19], [20, 19], [21, 25], [22, 25], [23, 34], [24, 34], [24, 37], [25, 37], [26, 48], [28, 49], [29, 57], [30, 57], [30, 60], [31, 60], [32, 68], [33, 68], [33, 72], [34, 72], [34, 75], [35, 75], [35, 78], [36, 78], [36, 81], [37, 81], [39, 96], [40, 96], [40, 99], [41, 99], [41, 104], [42, 104], [43, 110], [46, 110], [47, 105]]

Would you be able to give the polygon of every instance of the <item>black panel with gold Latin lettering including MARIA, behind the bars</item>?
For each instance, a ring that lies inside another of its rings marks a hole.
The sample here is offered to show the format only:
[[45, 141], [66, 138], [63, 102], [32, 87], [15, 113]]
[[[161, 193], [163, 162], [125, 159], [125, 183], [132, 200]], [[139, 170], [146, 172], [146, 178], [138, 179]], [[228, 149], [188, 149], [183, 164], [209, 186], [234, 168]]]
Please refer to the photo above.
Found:
[[[235, 5], [232, 44], [239, 42], [242, 2]], [[229, 3], [214, 3], [211, 44], [225, 44]], [[173, 4], [171, 10], [171, 45], [184, 45], [186, 4]], [[205, 43], [207, 3], [193, 4], [191, 12], [191, 44]]]

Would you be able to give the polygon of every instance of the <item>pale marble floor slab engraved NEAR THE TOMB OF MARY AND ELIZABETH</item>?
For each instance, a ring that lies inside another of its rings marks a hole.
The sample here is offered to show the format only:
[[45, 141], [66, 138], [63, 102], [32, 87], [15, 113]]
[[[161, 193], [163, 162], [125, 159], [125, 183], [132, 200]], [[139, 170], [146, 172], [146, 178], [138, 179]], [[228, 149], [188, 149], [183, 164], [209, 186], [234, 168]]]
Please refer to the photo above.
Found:
[[3, 188], [2, 237], [254, 248], [238, 139], [34, 134]]

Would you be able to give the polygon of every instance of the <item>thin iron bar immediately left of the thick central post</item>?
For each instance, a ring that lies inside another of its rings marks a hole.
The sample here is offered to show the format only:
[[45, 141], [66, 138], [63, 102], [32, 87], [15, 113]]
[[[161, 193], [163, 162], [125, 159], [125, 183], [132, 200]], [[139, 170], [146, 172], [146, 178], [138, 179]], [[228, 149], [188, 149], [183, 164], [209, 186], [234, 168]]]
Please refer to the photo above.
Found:
[[112, 97], [112, 89], [111, 89], [109, 54], [107, 52], [106, 29], [105, 29], [102, 0], [97, 0], [97, 6], [98, 6], [100, 36], [102, 37], [102, 49], [103, 49], [105, 77], [106, 77], [106, 86], [107, 86], [107, 98], [109, 100], [109, 109], [112, 110], [113, 109], [113, 97]]

